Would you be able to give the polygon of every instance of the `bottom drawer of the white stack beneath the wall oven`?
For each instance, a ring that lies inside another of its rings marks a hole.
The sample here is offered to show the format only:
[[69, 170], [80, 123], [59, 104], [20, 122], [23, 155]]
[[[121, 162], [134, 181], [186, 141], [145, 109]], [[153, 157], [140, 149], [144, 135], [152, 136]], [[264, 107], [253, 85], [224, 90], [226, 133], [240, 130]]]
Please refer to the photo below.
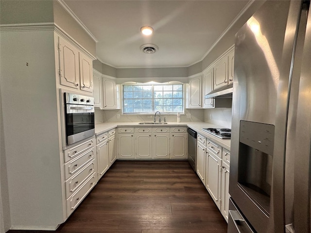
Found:
[[80, 204], [80, 202], [86, 197], [88, 192], [94, 187], [96, 183], [95, 173], [86, 183], [81, 186], [81, 188], [74, 193], [69, 199], [67, 199], [67, 216], [69, 216], [75, 208]]

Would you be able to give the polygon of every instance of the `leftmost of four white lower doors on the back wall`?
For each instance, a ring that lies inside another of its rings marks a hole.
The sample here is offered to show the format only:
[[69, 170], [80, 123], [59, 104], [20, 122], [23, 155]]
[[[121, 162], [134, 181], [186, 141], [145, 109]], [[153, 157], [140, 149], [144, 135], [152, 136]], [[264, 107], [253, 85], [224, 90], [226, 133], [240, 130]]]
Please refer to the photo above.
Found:
[[134, 159], [134, 134], [119, 133], [119, 158]]

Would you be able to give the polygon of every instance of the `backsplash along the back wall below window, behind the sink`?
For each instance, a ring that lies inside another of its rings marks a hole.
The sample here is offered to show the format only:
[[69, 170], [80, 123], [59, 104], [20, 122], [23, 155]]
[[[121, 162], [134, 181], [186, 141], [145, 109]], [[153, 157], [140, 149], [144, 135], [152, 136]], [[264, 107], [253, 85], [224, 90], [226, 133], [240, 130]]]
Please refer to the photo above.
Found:
[[[187, 118], [186, 114], [191, 114], [190, 118]], [[120, 118], [117, 116], [120, 115]], [[161, 117], [162, 121], [164, 121], [164, 116], [167, 122], [176, 122], [177, 114], [175, 115], [156, 115], [156, 121], [158, 121], [158, 117]], [[103, 123], [103, 122], [146, 122], [153, 121], [154, 116], [131, 116], [131, 115], [122, 115], [122, 111], [120, 109], [109, 109], [109, 110], [100, 110], [95, 109], [95, 124]], [[181, 115], [181, 122], [188, 121], [204, 121], [204, 111], [203, 109], [185, 109], [185, 114]]]

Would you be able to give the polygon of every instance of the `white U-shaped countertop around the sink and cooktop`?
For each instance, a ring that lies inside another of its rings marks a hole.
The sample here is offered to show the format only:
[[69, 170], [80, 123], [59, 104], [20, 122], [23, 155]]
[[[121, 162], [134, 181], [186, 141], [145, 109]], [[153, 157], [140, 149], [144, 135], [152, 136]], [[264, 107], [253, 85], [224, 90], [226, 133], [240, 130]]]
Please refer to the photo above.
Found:
[[139, 125], [138, 122], [106, 122], [106, 123], [100, 123], [95, 124], [95, 135], [99, 135], [101, 133], [104, 133], [108, 130], [114, 129], [116, 127], [171, 127], [171, 126], [187, 126], [191, 128], [192, 130], [196, 131], [197, 133], [201, 134], [202, 136], [207, 137], [208, 139], [212, 140], [213, 142], [216, 142], [220, 146], [224, 147], [227, 150], [230, 150], [230, 139], [221, 139], [218, 138], [210, 133], [206, 133], [202, 131], [202, 128], [225, 128], [223, 126], [214, 125], [206, 122], [200, 122], [200, 121], [189, 121], [189, 122], [167, 122], [167, 124], [163, 125]]

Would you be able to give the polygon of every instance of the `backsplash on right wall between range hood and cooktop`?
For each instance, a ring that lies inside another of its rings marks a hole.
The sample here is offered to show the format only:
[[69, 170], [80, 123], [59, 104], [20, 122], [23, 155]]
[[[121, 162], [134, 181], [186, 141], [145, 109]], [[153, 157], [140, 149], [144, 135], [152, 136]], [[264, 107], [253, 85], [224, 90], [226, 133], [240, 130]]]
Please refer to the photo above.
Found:
[[204, 121], [231, 129], [232, 108], [210, 108], [204, 110]]

